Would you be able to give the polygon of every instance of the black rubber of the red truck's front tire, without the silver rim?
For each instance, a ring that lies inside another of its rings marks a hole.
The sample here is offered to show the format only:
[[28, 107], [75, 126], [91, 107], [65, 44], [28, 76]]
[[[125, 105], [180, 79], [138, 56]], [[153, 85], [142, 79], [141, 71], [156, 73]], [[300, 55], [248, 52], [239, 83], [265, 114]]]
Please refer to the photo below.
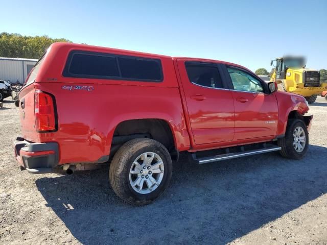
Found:
[[[301, 127], [306, 135], [306, 145], [302, 152], [297, 152], [293, 146], [293, 132], [297, 127]], [[278, 145], [282, 148], [279, 153], [283, 157], [296, 160], [302, 159], [306, 155], [309, 147], [309, 134], [305, 123], [300, 119], [290, 119], [287, 123], [285, 137], [278, 139]]]

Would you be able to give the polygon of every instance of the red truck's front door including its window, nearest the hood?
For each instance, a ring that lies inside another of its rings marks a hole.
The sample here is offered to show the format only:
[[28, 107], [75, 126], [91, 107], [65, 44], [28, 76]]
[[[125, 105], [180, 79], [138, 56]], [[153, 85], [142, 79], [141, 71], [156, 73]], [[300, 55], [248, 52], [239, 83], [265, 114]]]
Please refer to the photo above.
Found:
[[235, 105], [234, 140], [274, 136], [278, 106], [274, 94], [259, 78], [239, 67], [227, 66]]

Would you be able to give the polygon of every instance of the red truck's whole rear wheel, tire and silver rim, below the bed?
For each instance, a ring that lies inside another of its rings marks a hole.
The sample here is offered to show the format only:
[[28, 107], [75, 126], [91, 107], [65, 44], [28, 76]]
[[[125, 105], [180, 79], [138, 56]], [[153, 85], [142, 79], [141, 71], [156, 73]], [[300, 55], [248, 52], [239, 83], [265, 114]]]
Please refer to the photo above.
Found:
[[168, 187], [172, 160], [164, 145], [153, 139], [132, 139], [114, 155], [109, 169], [113, 191], [125, 202], [145, 205]]

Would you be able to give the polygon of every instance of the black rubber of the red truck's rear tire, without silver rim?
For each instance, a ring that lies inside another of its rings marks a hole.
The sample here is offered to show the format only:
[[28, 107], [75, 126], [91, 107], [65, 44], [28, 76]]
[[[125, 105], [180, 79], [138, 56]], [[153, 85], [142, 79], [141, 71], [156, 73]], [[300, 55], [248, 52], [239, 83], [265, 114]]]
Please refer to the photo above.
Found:
[[[137, 193], [130, 184], [129, 173], [134, 160], [143, 153], [157, 154], [164, 163], [164, 176], [159, 185], [147, 194]], [[172, 176], [172, 160], [164, 145], [153, 139], [132, 139], [121, 146], [114, 155], [109, 169], [109, 180], [113, 191], [125, 202], [146, 205], [154, 201], [168, 187]]]

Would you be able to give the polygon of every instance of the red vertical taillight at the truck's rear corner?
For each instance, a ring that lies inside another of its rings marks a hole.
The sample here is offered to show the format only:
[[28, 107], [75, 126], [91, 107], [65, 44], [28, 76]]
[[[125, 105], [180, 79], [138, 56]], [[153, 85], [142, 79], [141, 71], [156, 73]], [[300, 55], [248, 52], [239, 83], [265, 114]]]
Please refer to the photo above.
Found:
[[55, 101], [52, 95], [35, 91], [35, 124], [38, 132], [57, 130]]

